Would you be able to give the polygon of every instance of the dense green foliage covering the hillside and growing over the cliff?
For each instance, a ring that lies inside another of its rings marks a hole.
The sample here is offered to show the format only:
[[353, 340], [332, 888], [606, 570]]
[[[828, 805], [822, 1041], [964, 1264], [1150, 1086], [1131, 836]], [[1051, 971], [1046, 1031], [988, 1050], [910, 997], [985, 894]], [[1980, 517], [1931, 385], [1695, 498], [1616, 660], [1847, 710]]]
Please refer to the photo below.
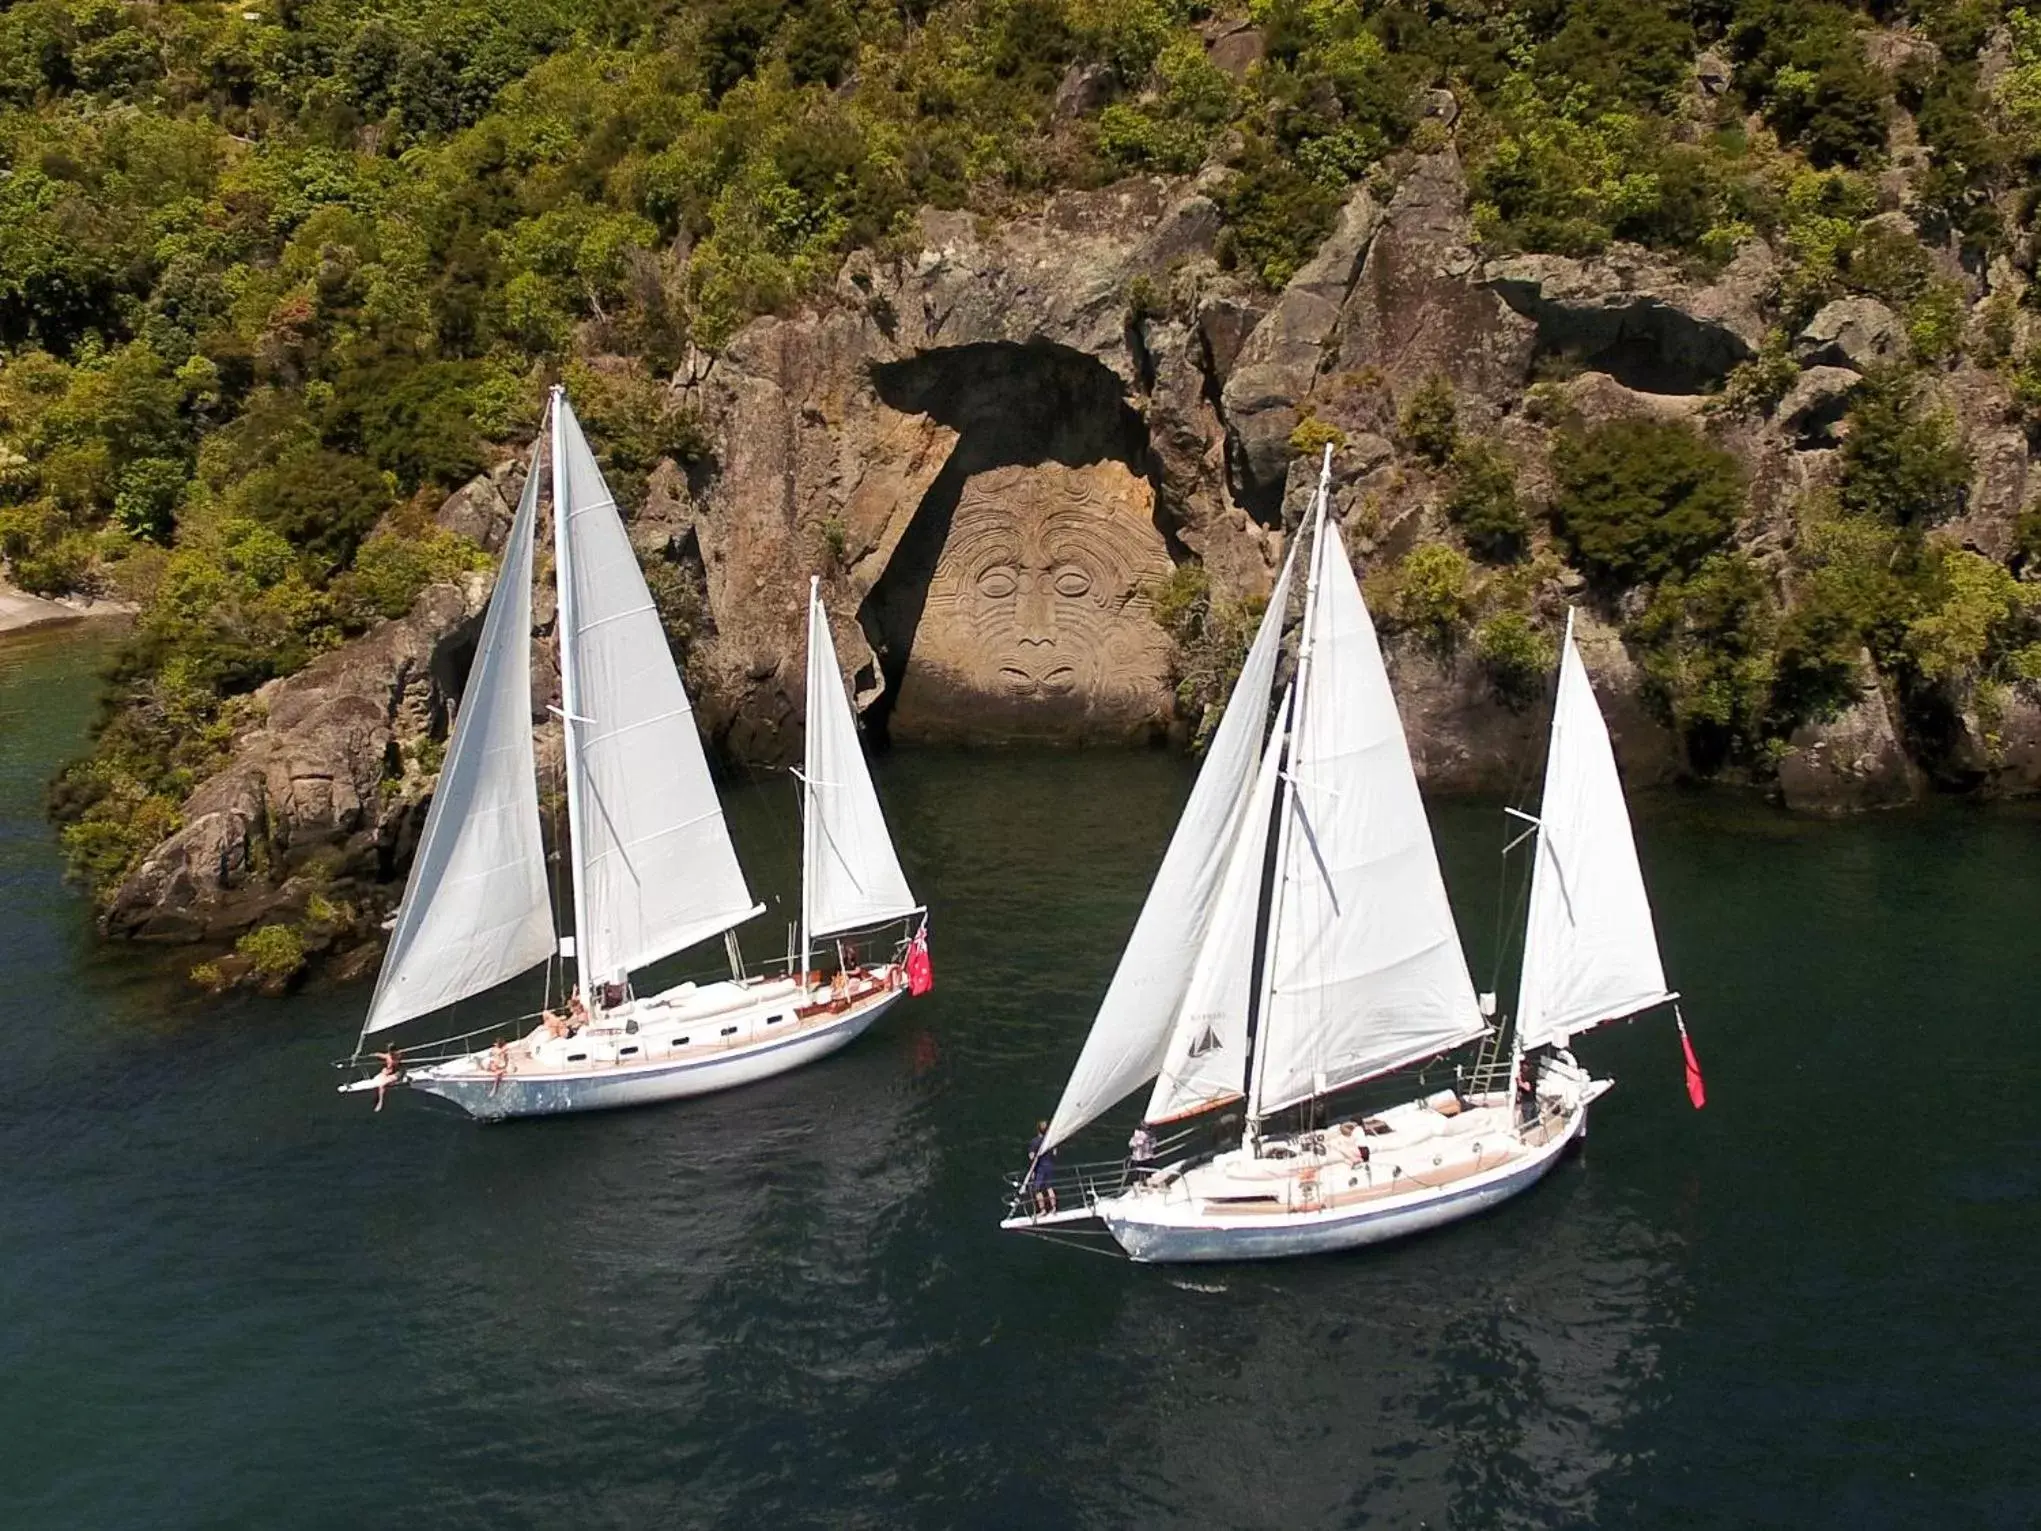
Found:
[[[1212, 41], [1237, 22], [1259, 57], [1229, 63]], [[1386, 192], [1402, 151], [1443, 143], [1439, 86], [1488, 249], [1629, 239], [1706, 271], [1765, 237], [1782, 335], [1829, 298], [1878, 296], [1914, 365], [2004, 367], [2041, 423], [2041, 353], [2014, 355], [2014, 314], [1965, 329], [1961, 284], [1914, 239], [1978, 267], [2035, 216], [2014, 190], [2041, 163], [2041, 18], [1998, 0], [0, 10], [0, 559], [31, 590], [145, 606], [100, 745], [57, 794], [73, 861], [118, 878], [255, 686], [476, 561], [425, 510], [531, 431], [563, 369], [602, 357], [578, 396], [631, 500], [661, 455], [700, 451], [657, 382], [688, 347], [812, 294], [853, 247], [908, 239], [918, 206], [996, 216], [1057, 186], [1210, 169], [1223, 259], [1276, 286], [1355, 184]], [[1878, 216], [1900, 112], [1923, 145], [1916, 229]], [[1790, 376], [1768, 347], [1729, 402], [1761, 412]], [[1961, 443], [1916, 384], [1859, 404], [1835, 506], [1910, 549], [1912, 604], [1765, 616], [1796, 696], [1839, 694], [1835, 655], [1859, 639], [1878, 663], [1968, 643], [1961, 625], [1892, 637], [1970, 590], [1919, 541], [1959, 508]], [[1525, 559], [1514, 467], [1463, 439], [1451, 392], [1398, 425], [1467, 547]], [[1655, 592], [1639, 631], [1667, 651], [1723, 621], [1688, 608], [1743, 608], [1706, 594], [1741, 580], [1710, 563], [1741, 492], [1710, 453], [1657, 427], [1559, 451], [1563, 545], [1608, 594]], [[1765, 600], [1827, 590], [1835, 567], [1802, 553]], [[1412, 580], [1412, 625], [1461, 610], [1447, 574]], [[661, 598], [676, 629], [696, 606]], [[1992, 655], [2002, 629], [1986, 623]], [[1506, 623], [1484, 653], [1514, 674], [1529, 651]], [[1674, 690], [1694, 674], [1661, 670]], [[1708, 714], [1741, 729], [1757, 710]]]

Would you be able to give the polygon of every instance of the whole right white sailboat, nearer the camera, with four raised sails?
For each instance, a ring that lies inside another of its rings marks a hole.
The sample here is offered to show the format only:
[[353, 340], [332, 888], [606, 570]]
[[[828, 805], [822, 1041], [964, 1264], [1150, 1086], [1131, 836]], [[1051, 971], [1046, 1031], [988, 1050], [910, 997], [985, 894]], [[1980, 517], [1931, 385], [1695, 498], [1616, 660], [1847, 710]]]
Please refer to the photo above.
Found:
[[[1567, 619], [1504, 1045], [1467, 976], [1329, 486], [1331, 451], [1296, 682], [1263, 739], [1286, 565], [1006, 1229], [1102, 1223], [1135, 1260], [1210, 1262], [1351, 1249], [1470, 1217], [1535, 1184], [1610, 1088], [1565, 1051], [1570, 1037], [1676, 998]], [[1312, 1125], [1335, 1115], [1331, 1094], [1476, 1041], [1457, 1088]], [[1243, 1102], [1241, 1141], [1043, 1170], [1151, 1078], [1139, 1135]], [[1274, 1131], [1278, 1117], [1306, 1125]]]

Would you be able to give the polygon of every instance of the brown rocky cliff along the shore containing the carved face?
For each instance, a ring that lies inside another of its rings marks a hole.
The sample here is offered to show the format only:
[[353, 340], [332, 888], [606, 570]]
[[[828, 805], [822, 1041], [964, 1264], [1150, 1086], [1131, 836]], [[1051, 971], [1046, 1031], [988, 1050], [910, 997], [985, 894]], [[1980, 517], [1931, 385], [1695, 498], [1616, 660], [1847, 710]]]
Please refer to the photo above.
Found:
[[[1451, 100], [1433, 112], [1449, 125]], [[1735, 541], [1776, 567], [1798, 496], [1835, 482], [1847, 402], [1908, 345], [1886, 306], [1833, 302], [1790, 337], [1770, 398], [1723, 408], [1776, 325], [1778, 257], [1759, 241], [1702, 282], [1623, 245], [1484, 257], [1447, 139], [1359, 190], [1270, 294], [1225, 269], [1208, 190], [1133, 180], [998, 227], [925, 212], [896, 253], [851, 257], [827, 298], [688, 359], [671, 390], [706, 449], [657, 467], [633, 537], [694, 592], [688, 674], [723, 755], [798, 751], [812, 570], [859, 704], [898, 745], [1167, 735], [1184, 655], [1153, 590], [1194, 563], [1214, 600], [1265, 596], [1316, 443], [1333, 441], [1335, 514], [1384, 602], [1427, 784], [1519, 784], [1543, 749], [1541, 708], [1498, 684], [1478, 645], [1398, 621], [1400, 598], [1376, 582], [1414, 549], [1463, 541], [1445, 459], [1412, 435], [1421, 396], [1443, 380], [1455, 429], [1494, 445], [1529, 504], [1551, 490], [1561, 425], [1690, 423], [1741, 461]], [[1972, 308], [2023, 282], [2002, 263], [1935, 259]], [[2004, 559], [2029, 498], [2006, 386], [1963, 361], [1929, 388], [1974, 463], [1939, 535]], [[510, 467], [476, 480], [441, 523], [494, 545], [512, 480]], [[1541, 521], [1529, 539], [1529, 557], [1494, 578], [1533, 629], [1580, 608], [1625, 770], [1641, 782], [1690, 770], [1621, 635], [1639, 612], [1596, 594]], [[218, 939], [335, 890], [371, 929], [400, 886], [484, 600], [482, 582], [437, 586], [265, 688], [259, 723], [118, 890], [106, 929]], [[549, 623], [541, 596], [541, 639]], [[2041, 708], [2019, 694], [1988, 721], [1951, 704], [1933, 737], [1868, 657], [1855, 696], [1786, 741], [1770, 780], [1788, 804], [1884, 806], [1931, 782], [2041, 786]]]

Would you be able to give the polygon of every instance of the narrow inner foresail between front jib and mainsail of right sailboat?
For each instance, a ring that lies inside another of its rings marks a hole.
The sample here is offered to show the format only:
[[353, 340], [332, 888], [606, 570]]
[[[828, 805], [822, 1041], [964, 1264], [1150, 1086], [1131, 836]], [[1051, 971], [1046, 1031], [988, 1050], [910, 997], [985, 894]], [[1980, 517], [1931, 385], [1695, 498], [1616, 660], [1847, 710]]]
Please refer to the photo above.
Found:
[[1143, 1121], [1192, 1117], [1247, 1092], [1247, 1010], [1253, 1002], [1255, 925], [1261, 919], [1261, 884], [1267, 872], [1270, 831], [1282, 745], [1290, 727], [1290, 698], [1276, 710], [1276, 729], [1261, 751], [1261, 772], [1241, 817], [1227, 874], [1212, 904], [1212, 923], [1190, 972], [1190, 988], [1161, 1074]]

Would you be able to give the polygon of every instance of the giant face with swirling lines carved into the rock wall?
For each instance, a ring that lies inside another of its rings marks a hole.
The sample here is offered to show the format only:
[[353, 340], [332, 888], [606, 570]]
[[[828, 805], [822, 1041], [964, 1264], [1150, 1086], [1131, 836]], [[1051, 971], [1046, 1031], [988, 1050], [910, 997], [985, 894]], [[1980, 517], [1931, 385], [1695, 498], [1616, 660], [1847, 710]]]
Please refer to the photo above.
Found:
[[892, 731], [1125, 737], [1167, 714], [1143, 590], [1169, 574], [1153, 492], [1118, 461], [965, 480], [929, 580]]

